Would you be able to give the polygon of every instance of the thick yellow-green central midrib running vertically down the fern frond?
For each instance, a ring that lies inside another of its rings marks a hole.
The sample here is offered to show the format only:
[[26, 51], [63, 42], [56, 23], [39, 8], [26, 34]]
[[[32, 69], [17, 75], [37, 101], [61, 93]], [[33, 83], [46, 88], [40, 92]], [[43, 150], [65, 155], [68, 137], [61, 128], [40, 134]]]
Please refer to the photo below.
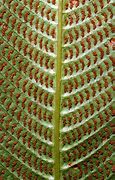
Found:
[[62, 71], [62, 1], [58, 1], [58, 30], [57, 30], [57, 62], [56, 62], [56, 92], [55, 110], [53, 116], [53, 156], [54, 179], [60, 180], [60, 103], [61, 103], [61, 71]]

